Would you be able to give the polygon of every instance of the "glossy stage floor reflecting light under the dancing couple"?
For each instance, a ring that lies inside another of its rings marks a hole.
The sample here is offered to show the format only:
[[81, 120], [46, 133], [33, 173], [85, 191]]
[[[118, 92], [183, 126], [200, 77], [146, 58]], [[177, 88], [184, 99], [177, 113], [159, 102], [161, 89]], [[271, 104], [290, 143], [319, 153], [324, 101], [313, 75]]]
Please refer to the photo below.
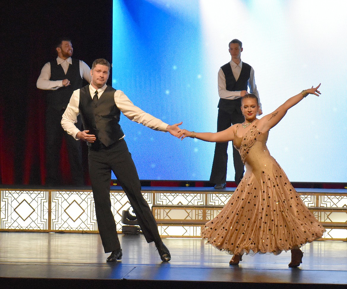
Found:
[[162, 263], [154, 243], [147, 244], [142, 235], [121, 234], [119, 238], [122, 260], [106, 263], [109, 254], [103, 253], [98, 234], [0, 232], [0, 284], [39, 278], [347, 286], [347, 242], [307, 244], [303, 264], [291, 269], [290, 252], [244, 256], [239, 266], [230, 266], [230, 255], [201, 239], [163, 239], [172, 259]]

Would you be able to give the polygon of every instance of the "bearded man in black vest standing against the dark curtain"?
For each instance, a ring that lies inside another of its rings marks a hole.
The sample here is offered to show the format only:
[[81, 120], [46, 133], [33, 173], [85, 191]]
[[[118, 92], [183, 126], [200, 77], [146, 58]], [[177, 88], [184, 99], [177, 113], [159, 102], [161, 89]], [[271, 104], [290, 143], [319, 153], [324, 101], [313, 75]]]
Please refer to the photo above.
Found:
[[[81, 143], [68, 135], [61, 127], [64, 113], [71, 94], [82, 87], [83, 78], [90, 83], [90, 68], [82, 60], [71, 58], [73, 48], [68, 39], [59, 40], [56, 46], [58, 57], [46, 63], [37, 80], [39, 89], [47, 90], [46, 102], [46, 170], [45, 184], [60, 184], [59, 159], [62, 138], [66, 140], [71, 177], [76, 186], [84, 185]], [[77, 126], [81, 127], [81, 119]]]

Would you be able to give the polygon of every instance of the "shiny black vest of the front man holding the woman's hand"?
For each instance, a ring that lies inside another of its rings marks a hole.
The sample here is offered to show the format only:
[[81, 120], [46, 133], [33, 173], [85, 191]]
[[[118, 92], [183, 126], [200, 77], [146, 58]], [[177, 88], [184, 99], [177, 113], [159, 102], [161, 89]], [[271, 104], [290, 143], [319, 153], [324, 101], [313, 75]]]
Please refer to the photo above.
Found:
[[94, 105], [89, 85], [79, 90], [78, 108], [83, 127], [96, 137], [96, 141], [90, 145], [91, 148], [98, 149], [100, 142], [108, 147], [124, 135], [119, 125], [120, 110], [115, 104], [115, 91], [111, 86], [107, 86]]

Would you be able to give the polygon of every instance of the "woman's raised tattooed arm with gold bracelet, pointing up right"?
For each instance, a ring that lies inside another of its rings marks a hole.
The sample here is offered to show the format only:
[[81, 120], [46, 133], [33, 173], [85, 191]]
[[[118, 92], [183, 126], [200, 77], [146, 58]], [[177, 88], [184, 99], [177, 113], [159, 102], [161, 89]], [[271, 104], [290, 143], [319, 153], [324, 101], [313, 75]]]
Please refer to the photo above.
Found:
[[283, 116], [286, 115], [289, 108], [295, 106], [298, 104], [301, 100], [303, 100], [308, 94], [315, 94], [316, 96], [319, 96], [320, 91], [318, 90], [319, 84], [317, 87], [313, 87], [310, 89], [303, 90], [302, 92], [298, 93], [296, 96], [293, 96], [289, 98], [284, 104], [279, 106], [276, 110], [274, 110], [272, 113], [265, 115], [262, 117], [258, 122], [258, 129], [261, 132], [266, 132], [272, 129], [276, 124], [280, 122], [280, 120], [283, 118]]

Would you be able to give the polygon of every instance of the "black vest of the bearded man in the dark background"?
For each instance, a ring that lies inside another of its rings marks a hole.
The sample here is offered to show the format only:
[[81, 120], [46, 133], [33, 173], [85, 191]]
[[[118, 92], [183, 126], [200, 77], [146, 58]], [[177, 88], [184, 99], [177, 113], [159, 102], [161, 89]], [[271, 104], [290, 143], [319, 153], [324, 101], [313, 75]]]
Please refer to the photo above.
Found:
[[47, 95], [47, 106], [53, 107], [64, 113], [71, 95], [74, 90], [82, 87], [83, 79], [79, 72], [79, 60], [71, 58], [72, 64], [69, 64], [67, 73], [64, 73], [64, 69], [61, 65], [57, 64], [57, 59], [50, 61], [51, 63], [51, 78], [50, 80], [63, 80], [68, 79], [70, 81], [69, 86], [62, 86], [57, 90], [50, 90]]

